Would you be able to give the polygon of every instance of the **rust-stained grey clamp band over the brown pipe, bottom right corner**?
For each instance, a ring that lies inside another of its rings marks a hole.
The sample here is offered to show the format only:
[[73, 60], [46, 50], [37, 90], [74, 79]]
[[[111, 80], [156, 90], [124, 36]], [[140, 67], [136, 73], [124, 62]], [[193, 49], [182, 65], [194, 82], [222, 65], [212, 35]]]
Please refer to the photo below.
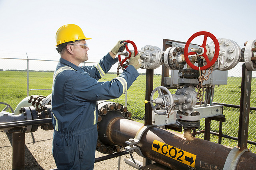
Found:
[[235, 170], [238, 160], [246, 151], [251, 152], [248, 148], [240, 151], [238, 147], [234, 147], [232, 150], [230, 150], [222, 170]]

